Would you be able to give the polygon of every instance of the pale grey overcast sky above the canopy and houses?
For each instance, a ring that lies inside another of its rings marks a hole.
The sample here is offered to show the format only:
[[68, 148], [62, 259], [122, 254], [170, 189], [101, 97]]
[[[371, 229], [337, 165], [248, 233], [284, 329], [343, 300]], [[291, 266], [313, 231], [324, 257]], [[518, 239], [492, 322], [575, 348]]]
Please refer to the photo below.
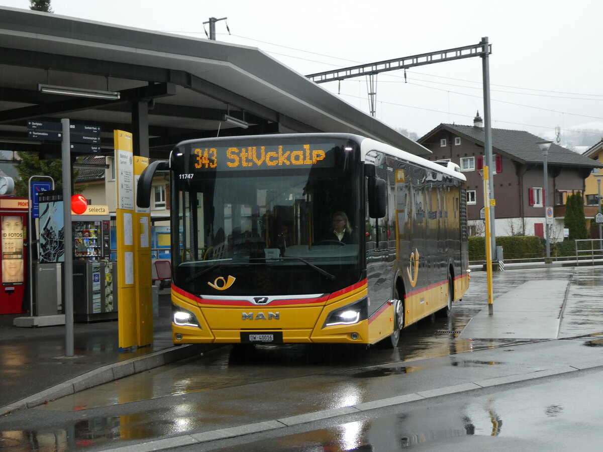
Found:
[[[29, 3], [0, 0], [16, 8]], [[209, 17], [227, 17], [216, 24], [218, 40], [260, 48], [303, 75], [473, 45], [487, 36], [492, 127], [555, 139], [558, 126], [567, 146], [603, 136], [598, 0], [52, 0], [51, 7], [55, 14], [200, 39], [204, 28], [209, 33], [203, 25]], [[377, 77], [376, 117], [391, 127], [422, 136], [441, 122], [473, 124], [476, 111], [483, 115], [479, 57], [414, 67], [406, 81], [403, 71]], [[364, 77], [322, 86], [368, 112]]]

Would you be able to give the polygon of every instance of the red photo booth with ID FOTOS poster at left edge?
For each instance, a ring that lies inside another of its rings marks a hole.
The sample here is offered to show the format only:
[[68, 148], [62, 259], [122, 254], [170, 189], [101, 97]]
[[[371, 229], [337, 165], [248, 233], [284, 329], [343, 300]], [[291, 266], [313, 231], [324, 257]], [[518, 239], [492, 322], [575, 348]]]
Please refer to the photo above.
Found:
[[0, 197], [2, 272], [0, 314], [19, 314], [27, 281], [27, 216], [29, 202], [20, 196]]

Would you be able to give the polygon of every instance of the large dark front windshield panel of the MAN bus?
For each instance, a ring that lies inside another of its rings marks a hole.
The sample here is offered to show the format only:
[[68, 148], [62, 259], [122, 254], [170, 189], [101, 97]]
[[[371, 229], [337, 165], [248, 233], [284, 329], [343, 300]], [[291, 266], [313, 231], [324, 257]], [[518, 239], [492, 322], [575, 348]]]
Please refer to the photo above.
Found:
[[[209, 149], [233, 155], [236, 147]], [[176, 286], [208, 297], [221, 295], [226, 285], [230, 296], [304, 295], [361, 279], [364, 190], [354, 152], [344, 156], [344, 146], [331, 143], [322, 166], [221, 171], [207, 161], [207, 168], [198, 168], [200, 152], [194, 151], [185, 149], [182, 162], [172, 161]], [[194, 171], [187, 168], [195, 162]], [[349, 231], [340, 241], [332, 231], [333, 217], [342, 213]]]

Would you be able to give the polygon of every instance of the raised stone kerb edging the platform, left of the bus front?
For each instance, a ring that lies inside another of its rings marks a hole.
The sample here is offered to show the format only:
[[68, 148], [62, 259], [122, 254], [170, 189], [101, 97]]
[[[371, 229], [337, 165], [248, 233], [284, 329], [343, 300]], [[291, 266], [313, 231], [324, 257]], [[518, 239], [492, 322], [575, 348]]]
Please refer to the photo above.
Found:
[[165, 350], [154, 351], [144, 356], [137, 356], [122, 362], [109, 364], [98, 369], [86, 372], [71, 380], [59, 383], [37, 394], [30, 395], [6, 406], [0, 407], [0, 416], [21, 410], [24, 408], [33, 408], [42, 405], [48, 400], [54, 400], [66, 395], [75, 394], [78, 391], [92, 388], [93, 386], [103, 385], [109, 381], [119, 380], [119, 378], [148, 371], [169, 363], [179, 361], [191, 356], [202, 354], [213, 348], [221, 347], [215, 344], [188, 344], [178, 347], [166, 348]]

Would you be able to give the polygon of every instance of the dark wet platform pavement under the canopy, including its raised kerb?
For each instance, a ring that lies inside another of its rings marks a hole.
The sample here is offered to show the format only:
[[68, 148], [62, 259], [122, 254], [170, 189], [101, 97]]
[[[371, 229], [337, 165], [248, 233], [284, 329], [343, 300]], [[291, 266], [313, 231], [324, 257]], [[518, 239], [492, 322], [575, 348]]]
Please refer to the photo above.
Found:
[[74, 357], [65, 356], [65, 326], [19, 328], [0, 315], [0, 415], [202, 353], [215, 346], [171, 341], [169, 289], [159, 295], [150, 347], [119, 352], [118, 322], [74, 324]]

